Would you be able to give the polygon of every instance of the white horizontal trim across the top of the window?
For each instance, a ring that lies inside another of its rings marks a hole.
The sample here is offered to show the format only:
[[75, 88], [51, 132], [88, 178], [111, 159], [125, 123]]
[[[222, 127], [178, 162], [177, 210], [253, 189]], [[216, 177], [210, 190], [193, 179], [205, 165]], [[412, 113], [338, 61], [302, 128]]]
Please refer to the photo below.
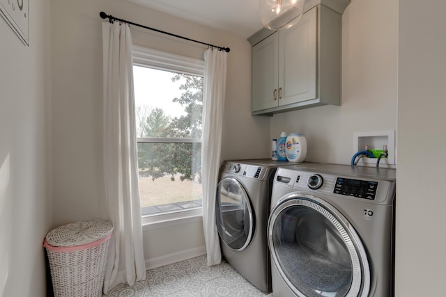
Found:
[[204, 61], [133, 45], [133, 65], [203, 77]]

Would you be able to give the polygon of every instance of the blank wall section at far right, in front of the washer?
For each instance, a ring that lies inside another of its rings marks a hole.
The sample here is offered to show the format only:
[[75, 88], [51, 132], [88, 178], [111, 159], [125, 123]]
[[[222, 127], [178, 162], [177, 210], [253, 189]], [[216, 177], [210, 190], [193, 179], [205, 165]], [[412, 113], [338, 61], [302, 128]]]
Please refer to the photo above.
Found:
[[446, 2], [399, 1], [396, 296], [445, 296]]

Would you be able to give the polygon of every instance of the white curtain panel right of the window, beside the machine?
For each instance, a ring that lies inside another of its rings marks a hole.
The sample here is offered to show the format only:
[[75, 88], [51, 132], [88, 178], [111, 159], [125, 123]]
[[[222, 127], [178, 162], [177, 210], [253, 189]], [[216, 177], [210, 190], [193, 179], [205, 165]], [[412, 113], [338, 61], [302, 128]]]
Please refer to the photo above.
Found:
[[201, 181], [203, 186], [203, 230], [208, 266], [222, 261], [215, 225], [215, 194], [221, 163], [222, 122], [226, 93], [226, 51], [208, 49], [204, 53], [203, 146]]

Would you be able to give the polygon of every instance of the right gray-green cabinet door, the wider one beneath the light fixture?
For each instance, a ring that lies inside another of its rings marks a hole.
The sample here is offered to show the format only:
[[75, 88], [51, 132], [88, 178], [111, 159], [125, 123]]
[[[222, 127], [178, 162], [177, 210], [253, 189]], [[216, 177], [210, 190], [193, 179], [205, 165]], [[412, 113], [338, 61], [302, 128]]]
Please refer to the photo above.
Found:
[[279, 106], [317, 98], [317, 7], [279, 32]]

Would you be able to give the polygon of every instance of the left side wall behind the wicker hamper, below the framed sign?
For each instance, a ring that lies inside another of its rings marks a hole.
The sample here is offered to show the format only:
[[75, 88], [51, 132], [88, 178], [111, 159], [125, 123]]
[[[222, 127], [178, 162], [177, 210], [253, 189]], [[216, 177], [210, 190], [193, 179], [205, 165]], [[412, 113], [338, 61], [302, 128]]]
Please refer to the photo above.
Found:
[[45, 296], [49, 191], [49, 1], [31, 1], [29, 47], [0, 17], [0, 296]]

